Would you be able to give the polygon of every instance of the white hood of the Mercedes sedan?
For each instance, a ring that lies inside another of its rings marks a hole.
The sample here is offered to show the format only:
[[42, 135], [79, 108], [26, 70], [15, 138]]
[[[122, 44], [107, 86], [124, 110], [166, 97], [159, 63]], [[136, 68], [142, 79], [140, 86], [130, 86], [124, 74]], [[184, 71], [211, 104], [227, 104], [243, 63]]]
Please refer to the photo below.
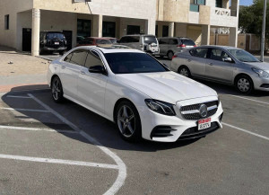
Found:
[[187, 99], [217, 95], [208, 86], [174, 72], [116, 75], [116, 79], [162, 102], [176, 103]]

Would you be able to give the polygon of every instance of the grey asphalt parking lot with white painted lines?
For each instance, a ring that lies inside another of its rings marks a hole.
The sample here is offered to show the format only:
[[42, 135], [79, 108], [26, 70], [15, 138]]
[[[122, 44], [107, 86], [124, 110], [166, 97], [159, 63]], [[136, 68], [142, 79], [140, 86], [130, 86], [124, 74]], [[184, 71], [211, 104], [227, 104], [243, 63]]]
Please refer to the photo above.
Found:
[[[48, 89], [3, 93], [1, 194], [267, 194], [269, 93], [203, 82], [221, 97], [223, 129], [172, 144], [130, 144]], [[12, 90], [14, 91], [14, 90]]]

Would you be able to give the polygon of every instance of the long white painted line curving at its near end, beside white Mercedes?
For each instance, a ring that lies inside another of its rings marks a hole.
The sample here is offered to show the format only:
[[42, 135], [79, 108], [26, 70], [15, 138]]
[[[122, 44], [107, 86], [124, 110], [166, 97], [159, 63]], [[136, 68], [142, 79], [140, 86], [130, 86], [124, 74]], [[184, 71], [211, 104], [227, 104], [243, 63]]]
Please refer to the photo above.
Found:
[[65, 117], [60, 115], [58, 112], [54, 111], [51, 109], [47, 104], [44, 102], [41, 102], [38, 98], [36, 98], [34, 95], [31, 93], [28, 93], [28, 95], [36, 102], [38, 102], [41, 106], [43, 106], [47, 111], [50, 111], [52, 114], [54, 114], [59, 120], [62, 120], [65, 122], [66, 125], [77, 131], [82, 135], [82, 137], [85, 137], [87, 140], [89, 140], [93, 145], [98, 146], [100, 150], [102, 150], [106, 155], [110, 156], [115, 163], [117, 164], [118, 167], [118, 174], [117, 174], [117, 180], [116, 182], [113, 183], [113, 185], [106, 191], [104, 194], [105, 195], [112, 195], [116, 194], [117, 191], [124, 185], [125, 180], [126, 180], [126, 164], [111, 150], [108, 149], [108, 147], [102, 146], [99, 141], [97, 141], [95, 138], [89, 136], [87, 133], [82, 131], [82, 129], [79, 129], [77, 126], [74, 125], [69, 120], [66, 120]]

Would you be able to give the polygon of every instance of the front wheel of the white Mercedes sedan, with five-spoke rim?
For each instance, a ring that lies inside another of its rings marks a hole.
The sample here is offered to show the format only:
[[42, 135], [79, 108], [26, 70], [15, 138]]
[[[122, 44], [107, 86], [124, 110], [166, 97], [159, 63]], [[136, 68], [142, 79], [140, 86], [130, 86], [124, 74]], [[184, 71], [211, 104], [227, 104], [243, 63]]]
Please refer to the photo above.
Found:
[[119, 135], [123, 139], [128, 142], [138, 142], [142, 139], [141, 120], [133, 103], [120, 102], [115, 118]]

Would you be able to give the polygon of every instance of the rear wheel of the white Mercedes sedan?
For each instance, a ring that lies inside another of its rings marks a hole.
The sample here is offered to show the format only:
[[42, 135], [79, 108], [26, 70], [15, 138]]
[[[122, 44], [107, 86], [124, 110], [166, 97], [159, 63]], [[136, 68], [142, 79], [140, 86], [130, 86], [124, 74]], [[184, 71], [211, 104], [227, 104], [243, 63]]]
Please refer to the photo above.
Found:
[[63, 86], [58, 76], [54, 77], [51, 82], [51, 94], [54, 102], [64, 102]]

